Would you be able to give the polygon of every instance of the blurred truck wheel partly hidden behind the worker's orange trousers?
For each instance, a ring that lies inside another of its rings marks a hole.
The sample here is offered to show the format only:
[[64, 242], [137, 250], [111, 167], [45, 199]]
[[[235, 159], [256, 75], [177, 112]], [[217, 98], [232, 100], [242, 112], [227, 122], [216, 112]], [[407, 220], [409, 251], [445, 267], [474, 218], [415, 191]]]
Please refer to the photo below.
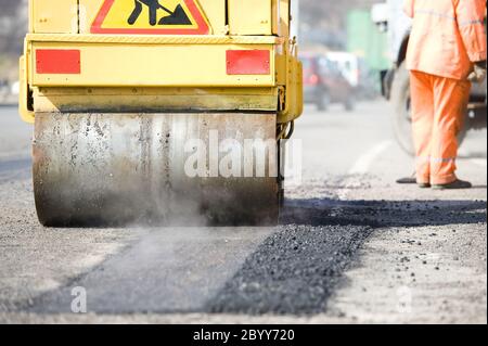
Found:
[[[396, 71], [391, 84], [391, 104], [394, 105], [393, 126], [395, 138], [401, 149], [411, 156], [415, 155], [412, 137], [412, 115], [410, 95], [410, 74], [403, 62]], [[466, 127], [458, 137], [461, 146], [466, 137]]]

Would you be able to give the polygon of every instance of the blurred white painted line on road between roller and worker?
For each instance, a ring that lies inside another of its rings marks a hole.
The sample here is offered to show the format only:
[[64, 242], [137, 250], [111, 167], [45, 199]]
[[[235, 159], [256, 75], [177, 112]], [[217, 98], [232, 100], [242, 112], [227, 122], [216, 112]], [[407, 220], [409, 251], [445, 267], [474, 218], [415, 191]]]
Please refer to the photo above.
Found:
[[346, 200], [351, 189], [359, 188], [361, 185], [361, 175], [365, 175], [373, 163], [393, 144], [391, 141], [384, 141], [374, 145], [371, 150], [365, 152], [358, 158], [355, 165], [348, 170], [348, 176], [344, 181], [344, 188], [337, 192], [337, 198]]

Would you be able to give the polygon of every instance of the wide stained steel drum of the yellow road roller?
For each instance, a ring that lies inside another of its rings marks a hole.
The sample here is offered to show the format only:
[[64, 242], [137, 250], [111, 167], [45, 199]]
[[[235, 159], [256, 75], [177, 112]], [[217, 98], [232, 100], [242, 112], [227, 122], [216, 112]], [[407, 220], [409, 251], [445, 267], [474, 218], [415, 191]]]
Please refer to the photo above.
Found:
[[[232, 152], [236, 158], [248, 140], [274, 140], [275, 121], [273, 114], [37, 113], [33, 174], [39, 220], [48, 227], [275, 225], [273, 150], [267, 152], [265, 176], [228, 178], [215, 169], [216, 159], [239, 167], [222, 156]], [[228, 152], [216, 155], [216, 133]], [[191, 157], [202, 159], [191, 164]], [[258, 165], [241, 157], [242, 171]]]

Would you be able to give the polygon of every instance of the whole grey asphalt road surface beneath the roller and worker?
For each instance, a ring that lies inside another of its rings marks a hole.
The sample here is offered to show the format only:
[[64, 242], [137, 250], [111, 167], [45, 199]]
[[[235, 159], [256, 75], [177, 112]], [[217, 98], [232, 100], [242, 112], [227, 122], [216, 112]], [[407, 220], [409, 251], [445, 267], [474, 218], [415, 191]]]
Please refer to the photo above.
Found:
[[44, 229], [31, 128], [0, 107], [0, 322], [486, 323], [487, 132], [459, 161], [474, 189], [420, 190], [389, 116], [307, 107], [277, 228]]

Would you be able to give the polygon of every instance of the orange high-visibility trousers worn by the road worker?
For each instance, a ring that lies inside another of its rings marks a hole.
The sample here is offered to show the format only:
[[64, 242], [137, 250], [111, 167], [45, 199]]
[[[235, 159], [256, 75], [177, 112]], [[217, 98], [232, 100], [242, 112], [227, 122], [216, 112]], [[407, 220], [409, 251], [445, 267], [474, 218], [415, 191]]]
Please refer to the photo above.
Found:
[[451, 183], [471, 82], [411, 71], [410, 84], [418, 182]]

